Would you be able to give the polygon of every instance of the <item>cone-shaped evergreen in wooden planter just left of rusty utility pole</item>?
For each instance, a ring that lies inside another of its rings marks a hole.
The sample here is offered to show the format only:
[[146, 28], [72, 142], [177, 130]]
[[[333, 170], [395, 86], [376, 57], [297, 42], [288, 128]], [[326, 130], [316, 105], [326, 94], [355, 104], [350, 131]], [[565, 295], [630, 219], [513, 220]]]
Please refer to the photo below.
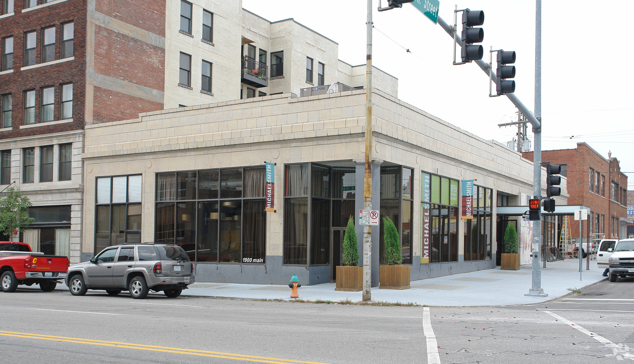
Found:
[[359, 248], [356, 232], [354, 231], [354, 219], [348, 219], [344, 243], [341, 247], [342, 263], [344, 265], [335, 268], [337, 273], [337, 286], [335, 290], [358, 292], [363, 289], [363, 267], [359, 267]]

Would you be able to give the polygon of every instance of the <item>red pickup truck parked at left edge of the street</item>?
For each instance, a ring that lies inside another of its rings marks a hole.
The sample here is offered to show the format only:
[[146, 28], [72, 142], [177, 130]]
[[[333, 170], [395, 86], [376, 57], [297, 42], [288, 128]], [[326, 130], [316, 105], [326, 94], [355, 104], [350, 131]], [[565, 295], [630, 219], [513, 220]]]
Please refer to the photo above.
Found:
[[70, 260], [32, 252], [29, 244], [0, 242], [0, 289], [13, 292], [18, 284], [39, 284], [44, 292], [55, 289], [66, 277]]

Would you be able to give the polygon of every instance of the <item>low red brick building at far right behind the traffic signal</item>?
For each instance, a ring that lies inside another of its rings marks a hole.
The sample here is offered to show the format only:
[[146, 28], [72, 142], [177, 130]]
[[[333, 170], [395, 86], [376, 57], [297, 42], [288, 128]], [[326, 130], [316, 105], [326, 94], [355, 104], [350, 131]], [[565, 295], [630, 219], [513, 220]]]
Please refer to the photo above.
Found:
[[[522, 157], [533, 160], [533, 152]], [[568, 205], [590, 207], [588, 221], [583, 224], [582, 237], [625, 238], [628, 177], [621, 172], [619, 160], [608, 153], [607, 159], [586, 143], [577, 143], [576, 149], [543, 150], [543, 162], [560, 164], [562, 175], [567, 178], [570, 195]], [[589, 224], [588, 224], [589, 223]], [[569, 224], [573, 238], [579, 237], [578, 221]]]

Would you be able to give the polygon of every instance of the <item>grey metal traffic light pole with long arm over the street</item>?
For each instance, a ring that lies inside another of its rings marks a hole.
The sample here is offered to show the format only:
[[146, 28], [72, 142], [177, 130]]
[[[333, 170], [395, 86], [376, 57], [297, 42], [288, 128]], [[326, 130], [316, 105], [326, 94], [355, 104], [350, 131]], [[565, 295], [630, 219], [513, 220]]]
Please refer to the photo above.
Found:
[[[449, 34], [455, 42], [462, 47], [462, 39], [456, 32], [456, 29], [450, 27], [440, 16], [438, 24], [443, 27], [445, 32]], [[482, 60], [474, 60], [484, 73], [492, 78], [497, 84], [497, 77], [493, 70], [489, 70], [493, 65], [489, 65]], [[531, 113], [522, 101], [513, 93], [505, 94], [515, 107], [517, 107], [526, 117], [528, 122], [533, 126], [533, 134], [535, 138], [533, 152], [533, 195], [534, 198], [541, 197], [541, 0], [536, 0], [535, 10], [535, 114]], [[537, 249], [533, 249], [537, 244]], [[533, 250], [537, 250], [536, 252]], [[547, 297], [541, 288], [541, 220], [533, 221], [533, 238], [531, 239], [531, 256], [533, 257], [533, 280], [531, 289], [524, 296]]]

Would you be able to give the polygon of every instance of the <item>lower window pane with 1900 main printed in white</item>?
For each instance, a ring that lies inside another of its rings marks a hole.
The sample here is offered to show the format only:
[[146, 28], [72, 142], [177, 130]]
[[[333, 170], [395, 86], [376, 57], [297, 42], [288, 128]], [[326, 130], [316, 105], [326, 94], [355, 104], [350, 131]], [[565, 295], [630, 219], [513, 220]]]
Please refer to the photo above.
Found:
[[264, 263], [266, 256], [266, 212], [264, 200], [244, 202], [242, 263]]

